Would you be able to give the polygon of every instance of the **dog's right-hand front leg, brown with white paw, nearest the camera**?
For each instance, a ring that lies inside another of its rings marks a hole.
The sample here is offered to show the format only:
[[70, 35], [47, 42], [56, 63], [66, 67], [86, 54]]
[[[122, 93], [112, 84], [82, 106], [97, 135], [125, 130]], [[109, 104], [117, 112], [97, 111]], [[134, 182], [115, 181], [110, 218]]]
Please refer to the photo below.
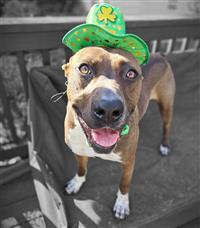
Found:
[[135, 156], [131, 161], [122, 164], [122, 177], [113, 211], [115, 217], [124, 219], [130, 213], [129, 188], [135, 165]]

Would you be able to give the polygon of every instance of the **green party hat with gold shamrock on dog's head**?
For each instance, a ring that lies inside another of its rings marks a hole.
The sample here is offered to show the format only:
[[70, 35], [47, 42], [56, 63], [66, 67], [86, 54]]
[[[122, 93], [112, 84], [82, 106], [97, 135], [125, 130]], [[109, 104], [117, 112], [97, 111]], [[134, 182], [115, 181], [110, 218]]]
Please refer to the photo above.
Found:
[[119, 8], [110, 4], [95, 4], [90, 9], [86, 24], [78, 25], [62, 39], [73, 52], [88, 46], [120, 48], [130, 52], [140, 64], [149, 59], [147, 44], [138, 36], [125, 34], [125, 22]]

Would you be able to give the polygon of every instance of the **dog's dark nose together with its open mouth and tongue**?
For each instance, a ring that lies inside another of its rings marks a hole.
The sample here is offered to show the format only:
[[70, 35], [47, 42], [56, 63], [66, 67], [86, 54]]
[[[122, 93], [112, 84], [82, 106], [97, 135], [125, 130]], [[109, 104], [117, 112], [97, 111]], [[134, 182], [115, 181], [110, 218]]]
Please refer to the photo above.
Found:
[[112, 151], [120, 138], [119, 123], [123, 112], [121, 97], [111, 89], [97, 88], [92, 94], [90, 120], [79, 116], [79, 122], [96, 152], [107, 154]]

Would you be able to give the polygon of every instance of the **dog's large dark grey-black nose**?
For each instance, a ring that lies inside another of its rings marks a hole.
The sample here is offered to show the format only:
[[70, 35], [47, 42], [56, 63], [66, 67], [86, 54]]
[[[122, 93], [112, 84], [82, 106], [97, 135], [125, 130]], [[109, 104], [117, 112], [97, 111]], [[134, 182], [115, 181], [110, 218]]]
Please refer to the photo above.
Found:
[[110, 89], [98, 89], [92, 103], [92, 112], [95, 118], [109, 124], [119, 120], [123, 110], [123, 103], [119, 95]]

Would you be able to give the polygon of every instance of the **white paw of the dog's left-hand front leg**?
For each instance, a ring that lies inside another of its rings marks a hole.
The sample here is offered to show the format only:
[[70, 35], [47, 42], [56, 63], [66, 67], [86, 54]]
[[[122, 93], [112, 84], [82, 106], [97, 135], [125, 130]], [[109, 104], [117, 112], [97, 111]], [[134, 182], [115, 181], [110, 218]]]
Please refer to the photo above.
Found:
[[65, 192], [67, 194], [77, 193], [80, 190], [83, 183], [85, 182], [85, 180], [85, 176], [80, 177], [76, 174], [76, 176], [73, 177], [70, 181], [68, 181], [65, 185]]

